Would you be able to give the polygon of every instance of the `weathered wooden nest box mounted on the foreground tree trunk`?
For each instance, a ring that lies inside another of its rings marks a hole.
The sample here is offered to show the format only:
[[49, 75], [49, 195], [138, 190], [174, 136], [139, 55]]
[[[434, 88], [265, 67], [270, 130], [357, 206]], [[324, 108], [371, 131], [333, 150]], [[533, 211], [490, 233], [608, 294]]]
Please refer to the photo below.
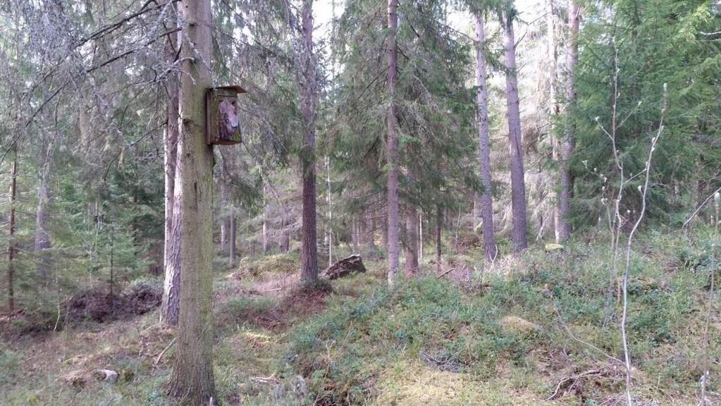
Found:
[[211, 87], [205, 93], [205, 143], [232, 145], [242, 141], [238, 116], [239, 86]]

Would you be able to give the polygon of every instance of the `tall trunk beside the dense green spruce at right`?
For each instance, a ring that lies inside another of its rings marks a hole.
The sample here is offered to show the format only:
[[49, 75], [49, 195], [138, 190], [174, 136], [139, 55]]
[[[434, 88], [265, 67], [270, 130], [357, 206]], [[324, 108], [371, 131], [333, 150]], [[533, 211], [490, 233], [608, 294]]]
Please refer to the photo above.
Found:
[[568, 1], [568, 63], [566, 72], [566, 121], [563, 128], [563, 140], [561, 144], [561, 195], [559, 196], [559, 222], [557, 226], [557, 239], [559, 242], [565, 241], [571, 234], [571, 225], [568, 222], [568, 216], [571, 211], [571, 198], [573, 196], [573, 177], [571, 169], [568, 165], [573, 150], [575, 149], [575, 141], [573, 134], [573, 125], [568, 115], [572, 114], [573, 106], [576, 100], [575, 83], [573, 80], [573, 71], [578, 65], [578, 26], [580, 22], [580, 7], [575, 0]]

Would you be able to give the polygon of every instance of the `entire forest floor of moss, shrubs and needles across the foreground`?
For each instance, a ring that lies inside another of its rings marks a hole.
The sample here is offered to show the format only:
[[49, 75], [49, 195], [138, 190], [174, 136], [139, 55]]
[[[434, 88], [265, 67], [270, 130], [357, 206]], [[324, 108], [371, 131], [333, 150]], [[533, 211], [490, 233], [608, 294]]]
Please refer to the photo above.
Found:
[[[698, 405], [707, 366], [707, 405], [721, 405], [709, 241], [654, 234], [637, 244], [629, 284], [637, 405]], [[470, 247], [444, 257], [452, 272], [438, 278], [427, 260], [394, 291], [377, 260], [366, 260], [367, 273], [300, 290], [293, 255], [244, 258], [238, 270], [218, 264], [218, 397], [227, 405], [621, 405], [618, 281], [607, 247], [588, 235], [484, 270]], [[174, 332], [157, 319], [154, 310], [56, 332], [9, 329], [0, 335], [0, 405], [164, 405]], [[118, 378], [98, 380], [97, 369]]]

